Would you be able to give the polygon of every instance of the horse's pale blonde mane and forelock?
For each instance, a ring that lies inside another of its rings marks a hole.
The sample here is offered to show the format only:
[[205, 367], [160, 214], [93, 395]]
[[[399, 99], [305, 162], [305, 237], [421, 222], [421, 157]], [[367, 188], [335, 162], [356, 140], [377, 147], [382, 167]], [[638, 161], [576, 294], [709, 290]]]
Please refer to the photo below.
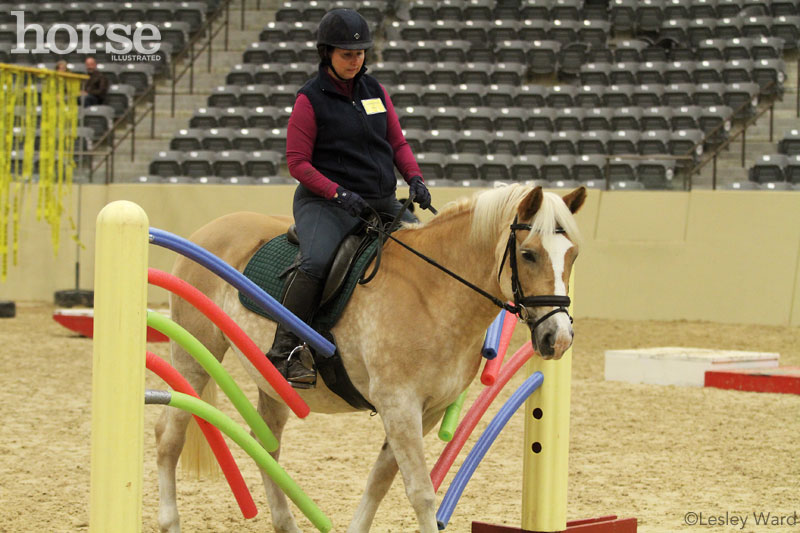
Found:
[[[532, 190], [531, 186], [515, 183], [475, 195], [472, 200], [472, 238], [496, 241], [500, 232], [514, 220], [520, 202]], [[580, 242], [578, 224], [567, 205], [559, 195], [545, 192], [542, 205], [531, 221], [531, 233], [550, 235], [557, 227], [566, 231], [574, 243]]]

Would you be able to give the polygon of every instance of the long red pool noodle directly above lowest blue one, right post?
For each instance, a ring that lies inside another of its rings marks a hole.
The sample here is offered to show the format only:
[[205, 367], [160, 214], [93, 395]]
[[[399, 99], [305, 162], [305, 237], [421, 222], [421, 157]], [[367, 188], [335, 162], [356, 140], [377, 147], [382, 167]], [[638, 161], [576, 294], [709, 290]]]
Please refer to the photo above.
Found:
[[483, 389], [481, 394], [475, 400], [475, 403], [472, 404], [472, 407], [469, 408], [469, 411], [464, 416], [464, 419], [458, 425], [455, 433], [453, 434], [453, 439], [447, 443], [447, 446], [444, 447], [442, 450], [442, 454], [439, 456], [439, 459], [436, 461], [436, 464], [433, 465], [433, 469], [431, 470], [431, 481], [433, 482], [433, 491], [436, 492], [439, 490], [439, 486], [442, 484], [444, 477], [447, 475], [448, 470], [450, 467], [453, 466], [453, 461], [456, 460], [458, 453], [461, 451], [461, 448], [464, 447], [464, 443], [467, 442], [470, 434], [475, 429], [475, 426], [478, 425], [483, 414], [486, 412], [486, 409], [489, 408], [489, 405], [494, 401], [497, 397], [497, 394], [505, 387], [506, 383], [511, 379], [511, 377], [517, 373], [525, 361], [531, 358], [533, 355], [533, 346], [530, 342], [526, 342], [522, 345], [522, 347], [517, 350], [511, 359], [508, 360], [508, 363], [503, 366], [503, 369], [500, 371], [500, 374], [497, 377], [497, 381], [495, 381], [494, 385], [491, 387], [486, 387]]

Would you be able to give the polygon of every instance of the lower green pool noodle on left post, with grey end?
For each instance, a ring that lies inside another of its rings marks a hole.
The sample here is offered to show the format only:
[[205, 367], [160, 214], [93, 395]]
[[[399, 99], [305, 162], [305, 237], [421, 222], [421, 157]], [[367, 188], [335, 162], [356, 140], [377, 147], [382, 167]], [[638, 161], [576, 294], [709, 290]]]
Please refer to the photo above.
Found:
[[269, 475], [281, 490], [291, 499], [298, 509], [308, 518], [314, 526], [327, 533], [333, 529], [330, 519], [317, 507], [314, 500], [309, 498], [303, 489], [281, 468], [281, 466], [261, 447], [250, 434], [239, 424], [231, 420], [219, 409], [207, 404], [206, 402], [183, 394], [172, 391], [169, 405], [188, 411], [197, 415], [208, 423], [215, 425], [230, 437], [236, 444], [247, 452], [255, 460], [256, 464]]

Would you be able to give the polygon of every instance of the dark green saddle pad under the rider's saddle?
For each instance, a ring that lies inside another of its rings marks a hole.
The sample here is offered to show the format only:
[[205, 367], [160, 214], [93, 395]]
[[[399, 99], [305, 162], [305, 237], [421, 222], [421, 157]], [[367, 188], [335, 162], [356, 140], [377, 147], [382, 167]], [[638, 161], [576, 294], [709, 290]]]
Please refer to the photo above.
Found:
[[[353, 295], [359, 278], [361, 278], [361, 275], [367, 269], [373, 257], [375, 257], [377, 250], [378, 239], [376, 238], [353, 261], [350, 272], [342, 283], [338, 294], [316, 312], [311, 323], [312, 328], [319, 332], [327, 332], [333, 329], [333, 326], [342, 316], [350, 296]], [[264, 289], [267, 294], [280, 301], [287, 277], [285, 274], [295, 262], [298, 251], [299, 247], [287, 241], [285, 234], [279, 235], [258, 249], [250, 259], [250, 262], [247, 263], [244, 275]], [[274, 320], [269, 313], [241, 291], [239, 292], [239, 301], [254, 313]]]

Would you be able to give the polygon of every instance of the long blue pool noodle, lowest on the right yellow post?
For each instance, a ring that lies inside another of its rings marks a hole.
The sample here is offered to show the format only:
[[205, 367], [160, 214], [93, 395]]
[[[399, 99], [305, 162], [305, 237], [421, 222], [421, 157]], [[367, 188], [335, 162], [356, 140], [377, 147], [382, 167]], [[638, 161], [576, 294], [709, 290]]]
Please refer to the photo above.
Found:
[[503, 407], [500, 408], [497, 414], [494, 415], [494, 418], [486, 427], [486, 430], [480, 436], [478, 442], [476, 442], [475, 446], [470, 450], [464, 464], [458, 469], [456, 476], [453, 478], [453, 482], [450, 483], [450, 486], [447, 488], [447, 494], [444, 495], [442, 503], [439, 505], [439, 510], [436, 512], [436, 523], [439, 526], [439, 530], [447, 526], [447, 522], [450, 521], [450, 517], [453, 515], [453, 510], [458, 503], [458, 499], [461, 498], [461, 493], [464, 492], [464, 487], [467, 486], [467, 482], [469, 482], [472, 474], [478, 467], [478, 463], [480, 463], [483, 456], [486, 455], [486, 452], [494, 443], [497, 435], [500, 434], [500, 431], [505, 427], [511, 416], [519, 409], [519, 406], [528, 399], [528, 396], [530, 396], [533, 391], [542, 385], [543, 381], [544, 376], [541, 372], [534, 372], [531, 374], [528, 379], [514, 391], [514, 394], [503, 404]]

